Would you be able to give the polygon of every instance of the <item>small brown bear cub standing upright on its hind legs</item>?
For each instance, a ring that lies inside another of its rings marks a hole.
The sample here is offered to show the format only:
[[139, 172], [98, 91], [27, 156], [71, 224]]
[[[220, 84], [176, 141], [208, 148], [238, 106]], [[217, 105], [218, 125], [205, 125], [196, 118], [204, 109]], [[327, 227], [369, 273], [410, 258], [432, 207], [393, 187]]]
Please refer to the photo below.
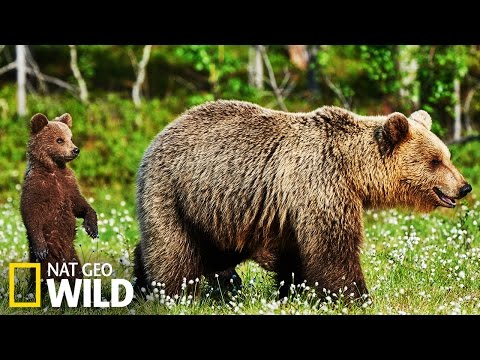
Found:
[[[48, 121], [45, 115], [36, 114], [30, 121], [28, 165], [20, 202], [30, 261], [41, 263], [43, 292], [45, 280], [49, 278], [48, 264], [80, 263], [73, 244], [75, 218], [84, 219], [83, 226], [89, 236], [98, 236], [97, 214], [80, 193], [75, 175], [67, 167], [67, 162], [80, 153], [72, 142], [72, 117], [63, 114], [55, 120]], [[81, 278], [81, 267], [76, 266], [76, 269], [75, 274], [65, 278]], [[52, 275], [50, 278], [58, 280], [61, 277]]]

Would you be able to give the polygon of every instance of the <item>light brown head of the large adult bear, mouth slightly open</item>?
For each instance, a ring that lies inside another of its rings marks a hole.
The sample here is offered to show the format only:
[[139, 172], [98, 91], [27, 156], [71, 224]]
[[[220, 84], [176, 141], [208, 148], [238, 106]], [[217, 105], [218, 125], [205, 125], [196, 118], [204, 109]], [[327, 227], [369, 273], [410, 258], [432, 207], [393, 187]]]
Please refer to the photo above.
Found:
[[472, 190], [431, 126], [426, 111], [416, 111], [408, 119], [393, 113], [375, 133], [380, 152], [393, 164], [392, 202], [424, 212], [438, 206], [453, 208], [456, 199]]

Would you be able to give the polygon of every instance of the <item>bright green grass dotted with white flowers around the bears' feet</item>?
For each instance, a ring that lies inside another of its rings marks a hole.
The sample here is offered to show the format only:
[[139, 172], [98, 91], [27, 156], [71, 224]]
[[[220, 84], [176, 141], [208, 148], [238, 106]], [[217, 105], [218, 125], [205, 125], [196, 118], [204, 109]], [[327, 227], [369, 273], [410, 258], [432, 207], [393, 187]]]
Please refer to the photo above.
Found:
[[[99, 214], [100, 239], [92, 240], [79, 229], [76, 243], [82, 261], [108, 262], [115, 277], [133, 280], [132, 250], [138, 242], [133, 203], [101, 190], [93, 206]], [[201, 286], [199, 298], [166, 298], [159, 284], [147, 300], [134, 301], [128, 308], [19, 309], [8, 307], [8, 264], [28, 260], [27, 241], [18, 198], [9, 198], [0, 206], [0, 314], [477, 314], [479, 215], [476, 194], [470, 203], [429, 215], [368, 211], [362, 263], [373, 302], [363, 307], [345, 305], [348, 289], [321, 302], [312, 289], [315, 284], [300, 285], [288, 299], [279, 299], [272, 274], [247, 262], [237, 269], [244, 286], [234, 294], [214, 297], [214, 289], [199, 279], [187, 284]], [[17, 275], [16, 289], [21, 293], [27, 280]], [[104, 293], [108, 298], [107, 288]]]

